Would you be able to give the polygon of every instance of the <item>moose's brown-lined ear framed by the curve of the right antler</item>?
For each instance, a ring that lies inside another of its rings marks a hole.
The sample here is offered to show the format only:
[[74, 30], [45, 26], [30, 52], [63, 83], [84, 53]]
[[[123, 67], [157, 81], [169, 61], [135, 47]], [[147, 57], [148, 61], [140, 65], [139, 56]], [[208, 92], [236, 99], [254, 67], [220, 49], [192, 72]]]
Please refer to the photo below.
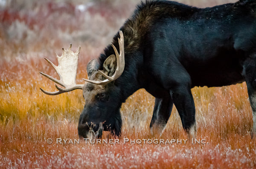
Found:
[[108, 76], [112, 76], [116, 71], [116, 56], [110, 55], [103, 64], [103, 72]]

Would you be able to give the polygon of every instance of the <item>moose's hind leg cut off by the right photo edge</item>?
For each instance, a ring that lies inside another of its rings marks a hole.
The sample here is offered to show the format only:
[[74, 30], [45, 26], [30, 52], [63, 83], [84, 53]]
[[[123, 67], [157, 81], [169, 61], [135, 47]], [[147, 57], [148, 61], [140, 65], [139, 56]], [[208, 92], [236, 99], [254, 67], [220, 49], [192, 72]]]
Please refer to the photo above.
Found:
[[253, 111], [252, 138], [256, 136], [256, 58], [249, 57], [244, 61], [243, 72], [250, 105]]

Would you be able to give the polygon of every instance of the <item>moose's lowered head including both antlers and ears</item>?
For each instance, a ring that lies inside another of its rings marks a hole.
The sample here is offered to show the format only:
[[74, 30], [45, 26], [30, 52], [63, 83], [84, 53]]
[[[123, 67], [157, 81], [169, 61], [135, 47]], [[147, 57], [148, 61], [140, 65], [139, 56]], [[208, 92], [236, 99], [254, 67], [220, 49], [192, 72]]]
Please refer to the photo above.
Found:
[[120, 86], [114, 84], [114, 81], [121, 76], [125, 68], [124, 37], [122, 31], [119, 31], [119, 35], [119, 53], [116, 47], [111, 44], [115, 55], [112, 54], [105, 60], [103, 70], [98, 70], [98, 60], [90, 60], [87, 64], [88, 79], [83, 79], [86, 81], [85, 84], [76, 84], [80, 46], [76, 53], [71, 51], [71, 44], [68, 50], [62, 48], [61, 57], [56, 54], [58, 66], [55, 66], [45, 58], [58, 73], [60, 80], [42, 72], [40, 73], [64, 88], [55, 84], [58, 91], [47, 92], [40, 88], [42, 92], [47, 95], [59, 95], [75, 89], [83, 90], [85, 105], [79, 118], [79, 137], [101, 137], [103, 130], [110, 130], [114, 135], [119, 135], [121, 132], [122, 120], [119, 111], [122, 105], [122, 101], [119, 99], [121, 92]]

